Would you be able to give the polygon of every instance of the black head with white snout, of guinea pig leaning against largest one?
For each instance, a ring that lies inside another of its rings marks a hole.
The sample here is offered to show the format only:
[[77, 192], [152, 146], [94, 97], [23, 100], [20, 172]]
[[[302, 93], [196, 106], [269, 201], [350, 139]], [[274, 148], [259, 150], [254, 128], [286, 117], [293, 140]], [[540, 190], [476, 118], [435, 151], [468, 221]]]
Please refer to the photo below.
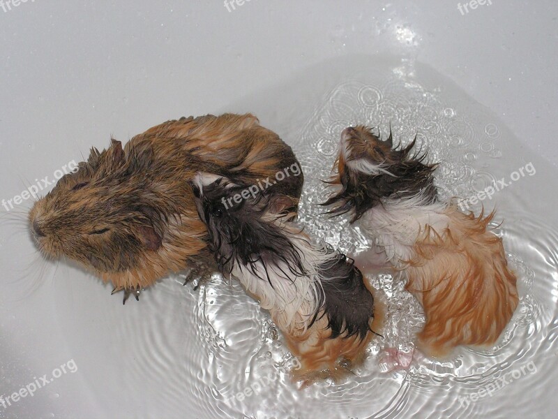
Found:
[[292, 243], [275, 222], [289, 219], [289, 214], [270, 211], [273, 198], [202, 172], [194, 177], [192, 187], [199, 218], [209, 233], [209, 249], [221, 270], [229, 273], [232, 263], [250, 265], [292, 256]]

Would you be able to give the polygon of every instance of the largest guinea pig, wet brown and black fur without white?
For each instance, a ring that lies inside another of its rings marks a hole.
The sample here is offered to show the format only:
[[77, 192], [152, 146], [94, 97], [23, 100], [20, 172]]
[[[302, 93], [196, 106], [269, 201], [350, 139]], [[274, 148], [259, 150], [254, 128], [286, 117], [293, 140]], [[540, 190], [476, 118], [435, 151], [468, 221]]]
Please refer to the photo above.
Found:
[[91, 149], [33, 205], [31, 233], [44, 256], [75, 260], [124, 290], [124, 302], [137, 298], [167, 273], [211, 260], [189, 182], [199, 170], [264, 182], [271, 212], [296, 212], [303, 174], [291, 147], [253, 115], [206, 115]]

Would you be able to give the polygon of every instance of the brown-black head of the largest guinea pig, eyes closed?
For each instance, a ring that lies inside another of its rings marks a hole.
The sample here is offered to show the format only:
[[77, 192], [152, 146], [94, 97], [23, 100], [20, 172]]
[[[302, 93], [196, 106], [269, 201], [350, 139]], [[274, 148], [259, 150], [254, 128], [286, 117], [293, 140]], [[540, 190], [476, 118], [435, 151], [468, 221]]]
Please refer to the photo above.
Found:
[[29, 226], [47, 258], [66, 258], [100, 273], [134, 267], [156, 251], [163, 223], [146, 197], [142, 172], [152, 156], [126, 159], [121, 142], [91, 149], [77, 171], [59, 179], [29, 212]]

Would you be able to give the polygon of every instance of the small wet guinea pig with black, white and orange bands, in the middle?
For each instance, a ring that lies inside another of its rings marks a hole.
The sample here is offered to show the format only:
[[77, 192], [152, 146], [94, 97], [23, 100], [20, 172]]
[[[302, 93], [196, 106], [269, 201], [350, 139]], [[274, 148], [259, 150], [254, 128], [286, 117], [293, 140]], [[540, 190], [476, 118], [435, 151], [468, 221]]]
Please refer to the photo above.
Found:
[[361, 362], [381, 320], [353, 261], [312, 244], [288, 214], [270, 212], [273, 197], [234, 199], [246, 184], [199, 173], [193, 185], [220, 271], [269, 310], [299, 360], [294, 376], [339, 378]]

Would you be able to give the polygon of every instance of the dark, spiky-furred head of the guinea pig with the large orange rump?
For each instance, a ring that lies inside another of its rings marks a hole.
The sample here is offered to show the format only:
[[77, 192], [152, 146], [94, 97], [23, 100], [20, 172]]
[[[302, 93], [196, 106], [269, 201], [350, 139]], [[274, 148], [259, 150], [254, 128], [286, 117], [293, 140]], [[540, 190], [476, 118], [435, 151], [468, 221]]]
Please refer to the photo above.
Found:
[[435, 165], [423, 163], [425, 154], [412, 154], [416, 137], [406, 147], [393, 147], [391, 131], [386, 140], [366, 126], [349, 126], [341, 133], [337, 174], [329, 183], [340, 184], [324, 205], [336, 206], [331, 214], [352, 214], [361, 218], [384, 198], [402, 198], [423, 193], [435, 196], [432, 172]]

